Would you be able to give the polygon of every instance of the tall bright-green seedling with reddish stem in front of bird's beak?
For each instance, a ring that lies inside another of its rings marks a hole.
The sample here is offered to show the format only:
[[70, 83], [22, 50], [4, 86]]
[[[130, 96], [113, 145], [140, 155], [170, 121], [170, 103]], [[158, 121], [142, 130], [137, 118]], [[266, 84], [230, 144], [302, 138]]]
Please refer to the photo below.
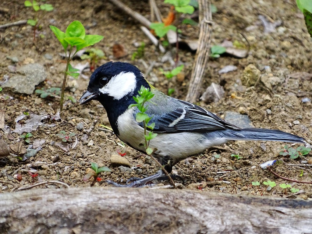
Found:
[[[71, 22], [66, 28], [65, 32], [62, 32], [55, 26], [50, 25], [50, 29], [55, 34], [56, 38], [60, 41], [61, 45], [64, 48], [66, 56], [66, 68], [64, 72], [64, 79], [62, 84], [61, 91], [61, 100], [60, 100], [60, 112], [63, 110], [63, 101], [64, 101], [64, 91], [66, 85], [67, 76], [72, 76], [78, 78], [79, 71], [71, 66], [70, 62], [75, 54], [81, 49], [92, 46], [95, 43], [101, 41], [103, 36], [100, 35], [86, 35], [85, 27], [79, 21], [75, 20]], [[74, 50], [76, 48], [76, 50]]]

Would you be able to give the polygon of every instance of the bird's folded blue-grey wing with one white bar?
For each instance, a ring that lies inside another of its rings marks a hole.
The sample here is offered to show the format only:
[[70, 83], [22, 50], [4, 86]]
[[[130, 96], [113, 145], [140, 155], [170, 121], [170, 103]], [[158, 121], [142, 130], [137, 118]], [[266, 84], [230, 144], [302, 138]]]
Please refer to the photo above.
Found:
[[[172, 97], [169, 98], [167, 103], [157, 102], [156, 99], [156, 102], [148, 108], [147, 114], [153, 116], [150, 122], [155, 123], [153, 130], [155, 133], [207, 132], [218, 129], [239, 129], [200, 106]], [[142, 123], [140, 125], [143, 126]]]

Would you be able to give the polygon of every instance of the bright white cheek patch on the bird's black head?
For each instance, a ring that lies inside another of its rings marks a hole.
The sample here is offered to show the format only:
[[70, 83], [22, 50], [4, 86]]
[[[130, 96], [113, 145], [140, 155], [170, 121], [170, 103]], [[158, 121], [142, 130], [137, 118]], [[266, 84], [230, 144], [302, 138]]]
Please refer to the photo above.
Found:
[[113, 76], [110, 81], [99, 91], [107, 94], [116, 100], [122, 99], [129, 93], [133, 93], [136, 87], [136, 76], [133, 72], [121, 72]]

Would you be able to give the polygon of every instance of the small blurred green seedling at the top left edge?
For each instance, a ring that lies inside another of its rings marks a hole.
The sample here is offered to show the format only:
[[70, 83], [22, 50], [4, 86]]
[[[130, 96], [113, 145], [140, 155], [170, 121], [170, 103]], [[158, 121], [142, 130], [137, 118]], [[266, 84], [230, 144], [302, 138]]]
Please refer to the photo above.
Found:
[[[32, 2], [27, 0], [24, 2], [24, 5], [25, 5], [25, 7], [32, 7], [32, 9], [35, 11], [34, 18], [27, 20], [27, 24], [31, 25], [34, 28], [33, 41], [35, 41], [36, 30], [37, 30], [38, 22], [39, 22], [38, 11], [41, 10], [41, 11], [45, 11], [45, 12], [50, 12], [50, 11], [53, 11], [54, 8], [51, 4], [42, 3], [41, 1], [37, 2], [35, 0], [32, 0]], [[40, 37], [42, 38], [43, 35], [42, 36], [41, 35], [40, 35]]]

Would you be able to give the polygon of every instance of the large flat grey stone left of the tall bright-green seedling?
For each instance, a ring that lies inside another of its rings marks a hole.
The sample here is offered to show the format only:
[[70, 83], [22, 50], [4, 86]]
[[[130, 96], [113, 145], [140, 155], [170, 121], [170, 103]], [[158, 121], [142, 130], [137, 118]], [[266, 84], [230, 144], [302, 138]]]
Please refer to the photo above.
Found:
[[2, 85], [3, 88], [11, 88], [16, 93], [32, 94], [35, 86], [46, 79], [46, 71], [41, 64], [30, 63], [17, 68], [19, 75], [12, 76], [6, 83]]

